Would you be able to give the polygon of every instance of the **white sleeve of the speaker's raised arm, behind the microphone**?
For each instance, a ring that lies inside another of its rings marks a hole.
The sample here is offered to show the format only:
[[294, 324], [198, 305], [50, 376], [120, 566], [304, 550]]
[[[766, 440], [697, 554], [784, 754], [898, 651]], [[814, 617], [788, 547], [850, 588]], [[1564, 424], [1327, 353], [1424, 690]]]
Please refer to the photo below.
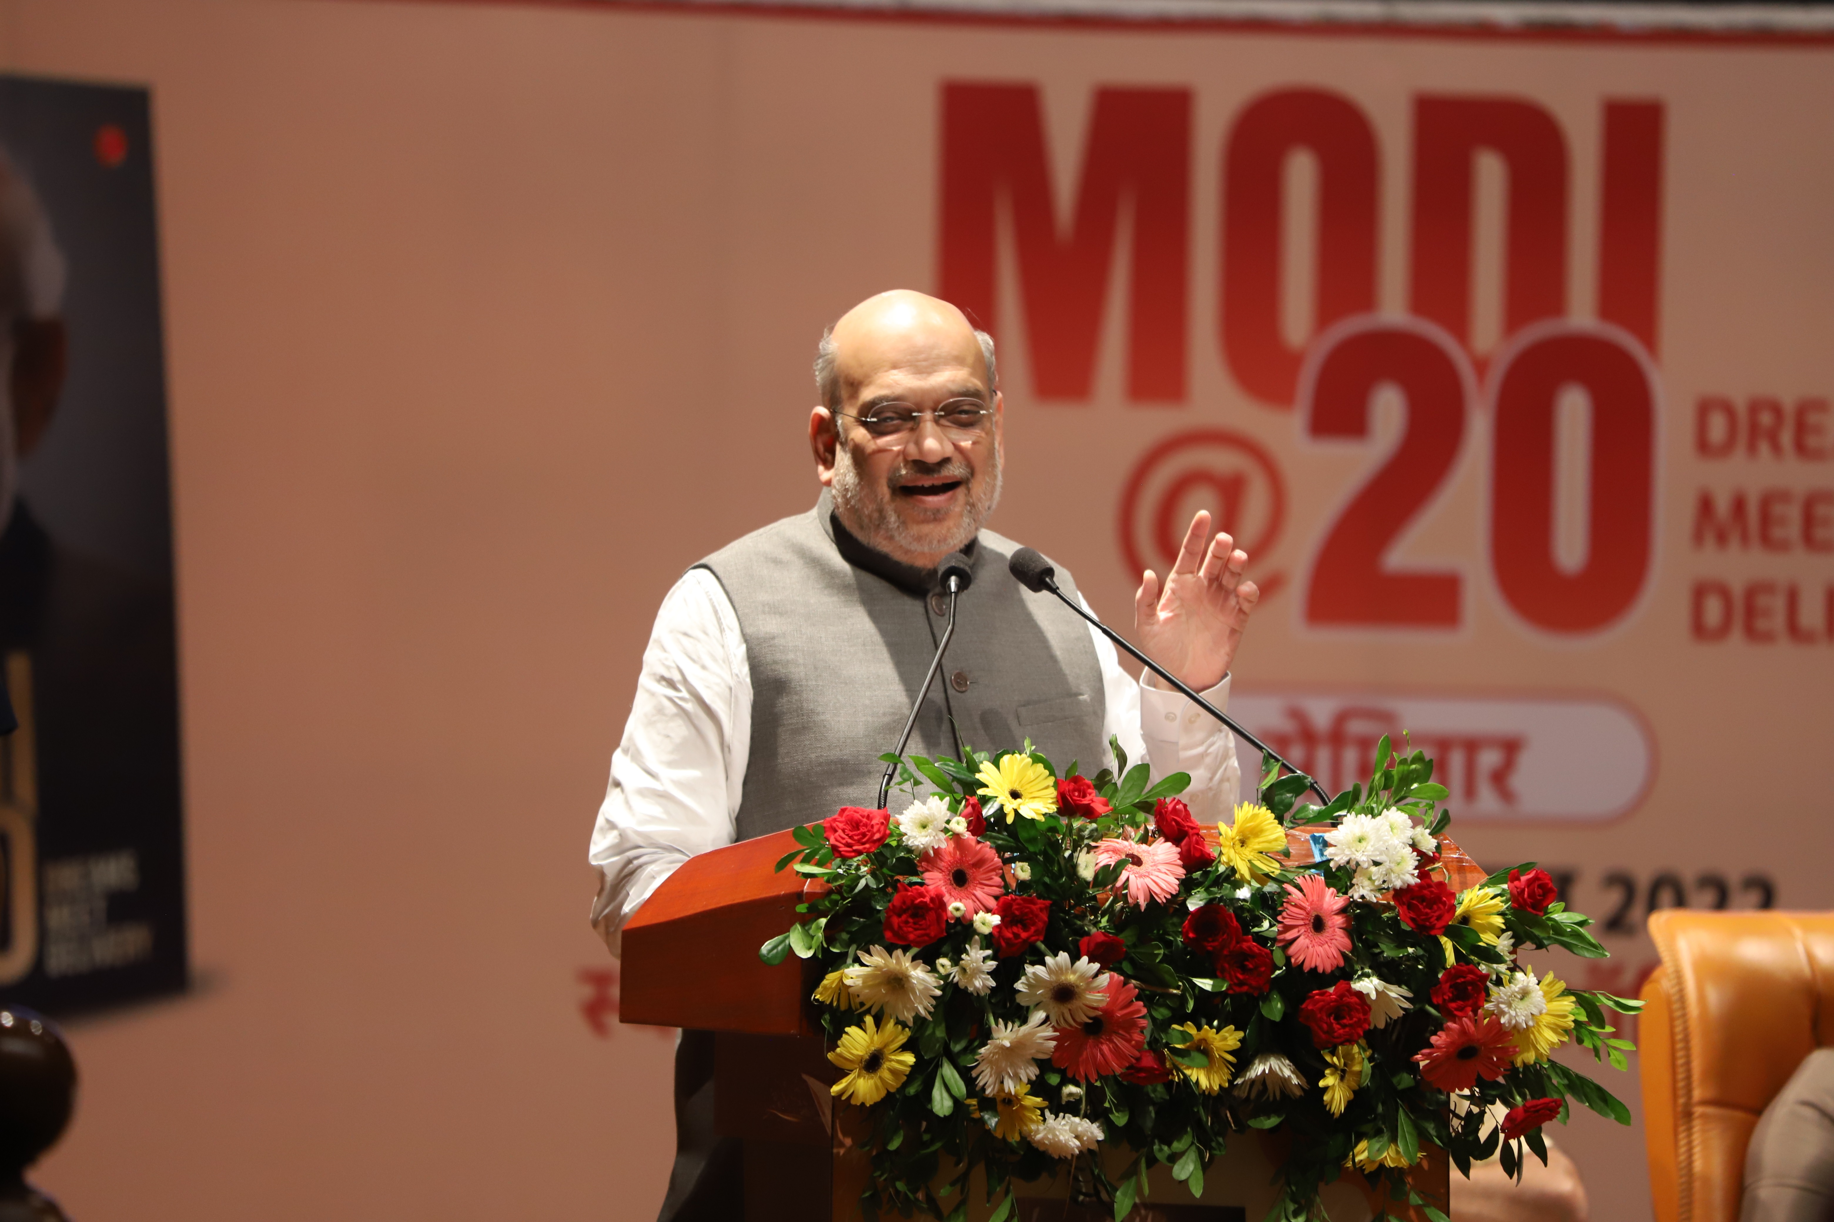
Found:
[[[1086, 599], [1082, 608], [1095, 614]], [[1190, 788], [1185, 790], [1190, 813], [1199, 823], [1223, 823], [1242, 791], [1236, 736], [1183, 694], [1148, 685], [1148, 671], [1139, 680], [1132, 678], [1121, 669], [1113, 641], [1093, 625], [1089, 638], [1102, 663], [1104, 736], [1121, 738], [1128, 760], [1144, 758], [1152, 764], [1154, 777], [1190, 773]], [[1229, 676], [1198, 694], [1227, 713]]]

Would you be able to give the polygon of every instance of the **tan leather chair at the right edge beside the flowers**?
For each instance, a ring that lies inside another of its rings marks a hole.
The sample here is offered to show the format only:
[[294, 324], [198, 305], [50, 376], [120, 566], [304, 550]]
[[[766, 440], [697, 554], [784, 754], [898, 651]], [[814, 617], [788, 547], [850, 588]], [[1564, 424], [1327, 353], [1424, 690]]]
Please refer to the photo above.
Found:
[[1662, 967], [1638, 1024], [1656, 1222], [1739, 1222], [1764, 1107], [1834, 1044], [1834, 912], [1649, 918]]

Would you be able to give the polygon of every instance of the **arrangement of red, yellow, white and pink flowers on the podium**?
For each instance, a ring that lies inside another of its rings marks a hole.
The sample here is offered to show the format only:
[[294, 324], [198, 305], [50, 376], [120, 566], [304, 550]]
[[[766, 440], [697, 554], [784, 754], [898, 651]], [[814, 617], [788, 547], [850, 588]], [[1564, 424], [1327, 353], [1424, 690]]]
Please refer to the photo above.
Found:
[[[1014, 1182], [1067, 1160], [1119, 1222], [1150, 1167], [1198, 1196], [1232, 1134], [1284, 1127], [1269, 1222], [1317, 1217], [1350, 1167], [1445, 1222], [1405, 1180], [1425, 1145], [1517, 1174], [1524, 1147], [1546, 1160], [1541, 1127], [1568, 1097], [1630, 1123], [1550, 1053], [1574, 1041], [1623, 1068], [1605, 1011], [1641, 1004], [1519, 960], [1605, 956], [1533, 863], [1447, 887], [1447, 791], [1421, 751], [1383, 738], [1368, 788], [1322, 808], [1297, 804], [1308, 777], [1269, 769], [1262, 804], [1209, 828], [1177, 797], [1185, 773], [1152, 784], [1113, 749], [1119, 775], [1095, 777], [1031, 744], [913, 757], [904, 813], [794, 830], [778, 868], [825, 890], [759, 955], [822, 967], [833, 1094], [875, 1108], [867, 1217], [965, 1218], [981, 1167], [1001, 1222]], [[1132, 1151], [1113, 1178], [1108, 1143]]]

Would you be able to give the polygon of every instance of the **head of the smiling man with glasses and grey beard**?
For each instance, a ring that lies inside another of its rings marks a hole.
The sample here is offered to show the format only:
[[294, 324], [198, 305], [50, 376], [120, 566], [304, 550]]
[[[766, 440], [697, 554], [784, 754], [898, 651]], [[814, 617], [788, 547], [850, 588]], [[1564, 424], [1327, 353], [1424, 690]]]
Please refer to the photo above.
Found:
[[842, 524], [923, 568], [974, 539], [1000, 500], [1001, 399], [963, 313], [880, 293], [834, 324], [818, 365], [809, 442]]

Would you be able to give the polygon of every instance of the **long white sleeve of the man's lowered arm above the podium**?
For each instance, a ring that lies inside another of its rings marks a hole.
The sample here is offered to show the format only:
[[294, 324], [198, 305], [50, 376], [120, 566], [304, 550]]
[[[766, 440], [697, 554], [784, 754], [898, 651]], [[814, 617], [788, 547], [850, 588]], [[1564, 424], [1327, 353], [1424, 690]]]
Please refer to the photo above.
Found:
[[644, 649], [636, 700], [592, 826], [592, 925], [618, 953], [624, 922], [693, 854], [730, 845], [752, 749], [752, 674], [719, 579], [675, 583]]

